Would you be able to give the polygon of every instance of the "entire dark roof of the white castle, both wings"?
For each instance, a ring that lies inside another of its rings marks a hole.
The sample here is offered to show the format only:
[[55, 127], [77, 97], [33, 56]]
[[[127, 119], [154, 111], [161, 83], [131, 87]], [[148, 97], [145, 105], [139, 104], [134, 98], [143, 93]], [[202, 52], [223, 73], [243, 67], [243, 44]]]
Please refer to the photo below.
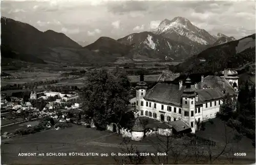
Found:
[[182, 97], [195, 96], [197, 92], [198, 102], [196, 102], [196, 104], [198, 105], [208, 100], [223, 98], [224, 90], [230, 95], [236, 93], [226, 79], [221, 79], [218, 76], [207, 76], [204, 78], [203, 82], [198, 83], [198, 90], [194, 85], [187, 87], [183, 85], [181, 89], [179, 89], [179, 85], [159, 82], [153, 88], [147, 90], [144, 99], [152, 102], [181, 106]]

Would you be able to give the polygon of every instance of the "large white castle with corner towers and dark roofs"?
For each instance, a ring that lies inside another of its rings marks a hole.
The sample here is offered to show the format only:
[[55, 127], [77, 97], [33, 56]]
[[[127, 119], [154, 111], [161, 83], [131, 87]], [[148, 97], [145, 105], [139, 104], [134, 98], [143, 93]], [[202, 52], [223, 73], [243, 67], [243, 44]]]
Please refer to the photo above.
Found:
[[195, 132], [197, 122], [216, 117], [226, 93], [238, 97], [238, 73], [225, 69], [222, 74], [202, 76], [195, 84], [189, 78], [179, 84], [158, 82], [151, 89], [142, 78], [136, 86], [136, 115], [161, 122], [182, 120]]

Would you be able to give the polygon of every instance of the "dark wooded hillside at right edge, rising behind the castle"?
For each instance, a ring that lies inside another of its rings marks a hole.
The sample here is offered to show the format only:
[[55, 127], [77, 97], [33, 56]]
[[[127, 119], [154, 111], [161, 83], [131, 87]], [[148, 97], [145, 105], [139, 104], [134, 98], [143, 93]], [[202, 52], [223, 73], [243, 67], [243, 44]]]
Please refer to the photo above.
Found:
[[219, 72], [255, 61], [255, 34], [213, 46], [177, 65], [176, 72]]

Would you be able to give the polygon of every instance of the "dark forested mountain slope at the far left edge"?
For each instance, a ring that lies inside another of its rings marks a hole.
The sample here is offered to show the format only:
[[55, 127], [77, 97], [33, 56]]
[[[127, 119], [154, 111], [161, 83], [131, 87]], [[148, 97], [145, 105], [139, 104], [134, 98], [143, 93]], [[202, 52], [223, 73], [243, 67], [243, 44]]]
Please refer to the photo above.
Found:
[[[61, 61], [59, 55], [52, 56], [54, 49], [79, 49], [81, 46], [63, 33], [52, 30], [41, 32], [28, 23], [1, 17], [2, 48], [16, 53], [13, 58], [33, 62], [33, 59]], [[6, 51], [5, 51], [6, 52]], [[8, 55], [3, 52], [3, 57]], [[26, 56], [25, 56], [26, 54]], [[19, 58], [18, 56], [22, 56]], [[33, 57], [31, 59], [31, 57]], [[32, 60], [32, 61], [31, 61]], [[38, 62], [38, 60], [35, 60]]]

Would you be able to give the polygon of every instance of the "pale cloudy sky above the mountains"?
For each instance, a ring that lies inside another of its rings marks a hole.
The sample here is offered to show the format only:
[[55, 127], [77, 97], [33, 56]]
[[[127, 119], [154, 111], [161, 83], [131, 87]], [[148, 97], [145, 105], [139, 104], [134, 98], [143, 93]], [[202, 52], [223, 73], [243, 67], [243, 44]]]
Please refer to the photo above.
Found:
[[29, 23], [40, 31], [54, 30], [74, 41], [92, 43], [153, 31], [176, 16], [187, 18], [211, 35], [236, 39], [255, 33], [255, 2], [246, 1], [107, 1], [2, 0], [1, 15]]

